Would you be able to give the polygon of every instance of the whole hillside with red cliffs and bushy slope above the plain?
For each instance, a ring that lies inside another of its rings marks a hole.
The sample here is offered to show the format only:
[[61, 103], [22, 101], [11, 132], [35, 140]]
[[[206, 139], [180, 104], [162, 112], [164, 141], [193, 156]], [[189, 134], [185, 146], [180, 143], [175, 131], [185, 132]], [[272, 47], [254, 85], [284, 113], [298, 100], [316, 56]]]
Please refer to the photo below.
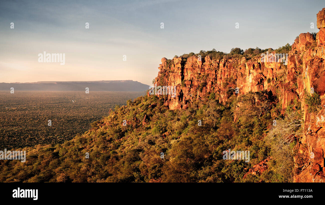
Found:
[[0, 181], [323, 182], [325, 8], [317, 27], [276, 50], [162, 58], [153, 82], [176, 97], [148, 93], [64, 144], [26, 148], [25, 163], [0, 162]]

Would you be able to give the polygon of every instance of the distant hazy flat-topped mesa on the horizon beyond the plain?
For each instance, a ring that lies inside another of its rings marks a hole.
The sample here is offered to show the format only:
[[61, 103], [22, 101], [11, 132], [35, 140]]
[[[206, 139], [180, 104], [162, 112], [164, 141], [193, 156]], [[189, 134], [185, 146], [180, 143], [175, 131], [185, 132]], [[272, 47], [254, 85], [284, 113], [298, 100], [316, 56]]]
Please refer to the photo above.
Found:
[[98, 81], [38, 81], [30, 83], [0, 83], [0, 90], [44, 90], [44, 91], [132, 91], [149, 89], [149, 85], [133, 80], [98, 80]]

